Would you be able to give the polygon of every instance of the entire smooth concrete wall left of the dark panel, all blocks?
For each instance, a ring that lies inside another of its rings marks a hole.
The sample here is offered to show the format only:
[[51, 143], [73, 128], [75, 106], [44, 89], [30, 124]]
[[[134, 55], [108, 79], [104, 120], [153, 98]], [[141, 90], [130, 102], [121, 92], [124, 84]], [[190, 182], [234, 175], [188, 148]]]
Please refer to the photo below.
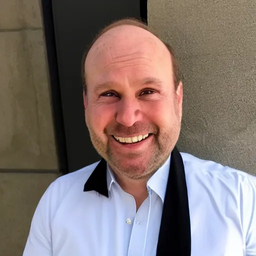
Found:
[[22, 254], [58, 175], [39, 0], [0, 0], [0, 255]]

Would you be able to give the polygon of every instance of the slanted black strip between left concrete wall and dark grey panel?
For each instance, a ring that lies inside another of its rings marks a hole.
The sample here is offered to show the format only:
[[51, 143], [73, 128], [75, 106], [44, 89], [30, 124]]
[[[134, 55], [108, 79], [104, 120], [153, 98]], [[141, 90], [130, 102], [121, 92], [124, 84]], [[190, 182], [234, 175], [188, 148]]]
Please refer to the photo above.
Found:
[[52, 15], [52, 1], [41, 0], [46, 52], [51, 89], [51, 108], [53, 112], [54, 133], [58, 157], [58, 165], [61, 173], [68, 173], [66, 141], [63, 123], [61, 92], [59, 84], [58, 63], [56, 55], [56, 43], [54, 23]]

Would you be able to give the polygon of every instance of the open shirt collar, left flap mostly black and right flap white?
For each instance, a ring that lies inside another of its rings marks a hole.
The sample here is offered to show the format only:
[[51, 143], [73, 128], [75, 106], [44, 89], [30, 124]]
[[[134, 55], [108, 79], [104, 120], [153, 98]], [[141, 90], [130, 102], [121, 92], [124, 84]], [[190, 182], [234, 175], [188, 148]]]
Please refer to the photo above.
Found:
[[[160, 196], [162, 202], [165, 196], [169, 166], [170, 156], [147, 181], [147, 185]], [[102, 158], [85, 182], [83, 191], [95, 190], [108, 197], [112, 183], [116, 183], [116, 180], [108, 164]]]

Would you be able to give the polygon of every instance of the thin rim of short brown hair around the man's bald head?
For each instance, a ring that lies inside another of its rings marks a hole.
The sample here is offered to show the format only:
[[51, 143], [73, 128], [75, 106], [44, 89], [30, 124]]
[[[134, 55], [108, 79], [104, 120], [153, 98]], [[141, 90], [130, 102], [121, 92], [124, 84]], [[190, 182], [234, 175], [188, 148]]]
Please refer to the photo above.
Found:
[[[111, 28], [114, 28], [114, 27], [120, 26], [120, 25], [133, 25], [133, 26], [141, 27], [141, 28], [149, 31], [153, 35], [155, 35], [159, 40], [161, 40], [155, 32], [153, 32], [151, 29], [149, 29], [149, 27], [147, 26], [146, 23], [144, 23], [143, 21], [141, 21], [139, 19], [136, 19], [136, 18], [119, 19], [119, 20], [113, 21], [109, 25], [105, 26], [103, 29], [101, 29], [98, 32], [98, 34], [95, 36], [95, 38], [89, 44], [89, 46], [85, 49], [85, 51], [83, 53], [83, 56], [82, 56], [81, 75], [82, 75], [83, 90], [85, 92], [86, 92], [86, 77], [85, 77], [86, 74], [85, 74], [85, 70], [84, 70], [85, 69], [84, 65], [85, 65], [85, 59], [86, 59], [86, 56], [88, 54], [88, 51], [90, 50], [90, 48], [94, 44], [94, 42], [98, 39], [98, 37], [100, 37], [103, 33], [110, 30]], [[179, 81], [181, 80], [177, 60], [175, 58], [172, 47], [168, 43], [164, 42], [163, 40], [161, 40], [161, 41], [163, 42], [163, 44], [166, 46], [166, 48], [168, 49], [168, 51], [170, 53], [171, 62], [172, 62], [172, 69], [173, 69], [173, 81], [174, 81], [175, 87], [177, 87]]]

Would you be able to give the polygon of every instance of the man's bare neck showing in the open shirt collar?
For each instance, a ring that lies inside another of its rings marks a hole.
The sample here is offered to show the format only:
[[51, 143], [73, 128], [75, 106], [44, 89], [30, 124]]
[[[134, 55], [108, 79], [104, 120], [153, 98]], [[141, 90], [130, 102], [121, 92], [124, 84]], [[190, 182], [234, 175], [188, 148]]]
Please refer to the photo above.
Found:
[[130, 179], [116, 172], [114, 174], [115, 174], [116, 181], [118, 182], [120, 187], [123, 189], [123, 191], [131, 194], [134, 197], [136, 202], [136, 210], [137, 210], [148, 195], [147, 188], [146, 188], [146, 182], [148, 178], [135, 180], [135, 179]]

